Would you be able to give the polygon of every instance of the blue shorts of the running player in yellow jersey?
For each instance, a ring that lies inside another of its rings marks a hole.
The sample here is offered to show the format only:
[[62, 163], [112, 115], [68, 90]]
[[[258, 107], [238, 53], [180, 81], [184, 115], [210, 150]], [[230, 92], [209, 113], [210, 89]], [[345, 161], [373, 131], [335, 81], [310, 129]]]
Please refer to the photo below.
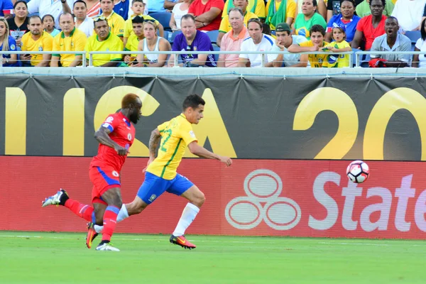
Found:
[[174, 195], [182, 195], [194, 185], [183, 175], [176, 175], [173, 180], [165, 180], [152, 173], [145, 173], [145, 180], [138, 190], [138, 197], [146, 204], [151, 204], [165, 191]]

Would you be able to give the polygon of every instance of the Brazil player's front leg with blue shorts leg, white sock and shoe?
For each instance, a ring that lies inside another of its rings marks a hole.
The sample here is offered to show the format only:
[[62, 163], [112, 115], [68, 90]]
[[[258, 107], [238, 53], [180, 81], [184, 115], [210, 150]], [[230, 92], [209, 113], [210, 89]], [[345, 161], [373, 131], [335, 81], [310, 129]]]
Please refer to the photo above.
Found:
[[195, 249], [195, 244], [191, 244], [184, 235], [186, 229], [194, 221], [195, 217], [197, 217], [198, 212], [200, 212], [202, 204], [204, 204], [204, 193], [202, 193], [190, 180], [179, 174], [176, 175], [175, 182], [173, 182], [168, 192], [180, 195], [189, 201], [185, 209], [183, 209], [182, 216], [179, 219], [175, 231], [173, 231], [172, 236], [170, 236], [170, 243], [178, 244], [185, 249]]

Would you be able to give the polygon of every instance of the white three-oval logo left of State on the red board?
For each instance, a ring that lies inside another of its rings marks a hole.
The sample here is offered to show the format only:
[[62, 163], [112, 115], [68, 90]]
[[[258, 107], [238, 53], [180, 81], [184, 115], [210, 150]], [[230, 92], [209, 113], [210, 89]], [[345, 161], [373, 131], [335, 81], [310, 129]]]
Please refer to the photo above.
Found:
[[234, 228], [253, 229], [264, 221], [275, 230], [288, 230], [300, 222], [299, 204], [280, 197], [283, 182], [272, 170], [249, 173], [244, 180], [244, 191], [247, 196], [234, 198], [225, 208], [226, 221]]

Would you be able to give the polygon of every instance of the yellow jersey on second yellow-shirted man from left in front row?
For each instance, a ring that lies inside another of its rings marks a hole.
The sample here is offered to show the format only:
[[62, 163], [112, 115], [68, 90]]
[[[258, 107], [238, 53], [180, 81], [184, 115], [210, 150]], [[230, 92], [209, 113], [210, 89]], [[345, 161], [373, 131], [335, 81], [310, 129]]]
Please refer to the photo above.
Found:
[[60, 54], [60, 51], [84, 51], [86, 41], [86, 34], [77, 28], [72, 30], [70, 36], [65, 36], [64, 32], [61, 31], [53, 38], [53, 51], [58, 51], [53, 56], [60, 58], [62, 67], [69, 67], [71, 62], [75, 60], [75, 54]]

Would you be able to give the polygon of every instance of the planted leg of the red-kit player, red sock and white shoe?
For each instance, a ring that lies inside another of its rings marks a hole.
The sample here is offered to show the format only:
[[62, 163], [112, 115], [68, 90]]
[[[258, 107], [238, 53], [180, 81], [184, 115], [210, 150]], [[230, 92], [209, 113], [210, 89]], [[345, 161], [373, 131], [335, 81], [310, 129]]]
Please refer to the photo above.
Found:
[[107, 202], [108, 206], [104, 212], [104, 229], [102, 230], [102, 241], [97, 246], [97, 251], [119, 251], [119, 249], [111, 246], [111, 236], [117, 224], [117, 215], [123, 205], [121, 201], [120, 187], [112, 187], [102, 193], [102, 200]]

